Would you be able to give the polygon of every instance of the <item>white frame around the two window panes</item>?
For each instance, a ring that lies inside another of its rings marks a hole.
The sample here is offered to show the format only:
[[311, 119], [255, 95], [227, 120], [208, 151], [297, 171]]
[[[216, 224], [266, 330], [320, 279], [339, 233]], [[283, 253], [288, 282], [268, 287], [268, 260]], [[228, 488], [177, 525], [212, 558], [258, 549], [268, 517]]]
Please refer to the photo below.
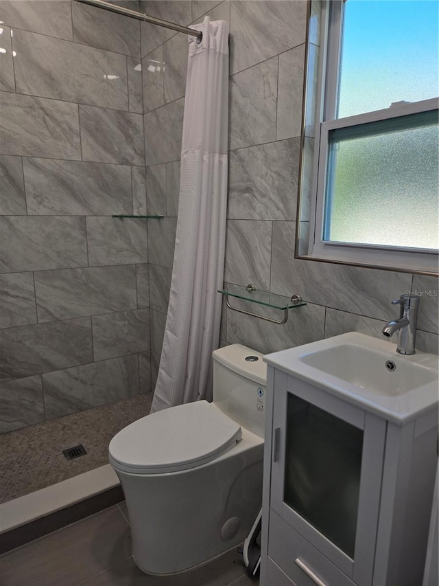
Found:
[[[341, 262], [359, 266], [388, 268], [399, 271], [438, 274], [438, 250], [390, 247], [361, 243], [329, 242], [322, 239], [324, 227], [329, 133], [336, 128], [348, 128], [405, 115], [434, 111], [439, 99], [396, 104], [389, 108], [336, 118], [337, 89], [340, 76], [342, 48], [342, 16], [346, 0], [331, 0], [322, 4], [322, 38], [316, 95], [316, 147], [313, 155], [311, 207], [309, 216], [308, 254], [305, 258]], [[403, 126], [401, 125], [401, 130]], [[395, 217], [410, 217], [404, 210], [395, 210]], [[390, 218], [391, 223], [392, 218]], [[300, 218], [298, 217], [298, 225]], [[299, 256], [299, 258], [304, 258]]]

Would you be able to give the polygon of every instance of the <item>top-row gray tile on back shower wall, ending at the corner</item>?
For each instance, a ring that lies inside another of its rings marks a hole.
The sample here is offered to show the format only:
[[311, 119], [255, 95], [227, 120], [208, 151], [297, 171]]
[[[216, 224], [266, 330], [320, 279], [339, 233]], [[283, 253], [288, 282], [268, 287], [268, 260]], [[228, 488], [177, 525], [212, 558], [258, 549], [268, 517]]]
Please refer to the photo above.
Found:
[[129, 55], [140, 56], [140, 23], [121, 14], [72, 2], [73, 41]]

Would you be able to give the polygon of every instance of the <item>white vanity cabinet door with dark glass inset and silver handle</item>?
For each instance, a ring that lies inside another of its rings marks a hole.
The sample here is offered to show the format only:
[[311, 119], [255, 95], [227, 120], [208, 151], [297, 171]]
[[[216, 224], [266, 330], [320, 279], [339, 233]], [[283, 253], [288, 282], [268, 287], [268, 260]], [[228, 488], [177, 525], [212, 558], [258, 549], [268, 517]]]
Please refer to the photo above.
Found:
[[385, 421], [276, 371], [271, 508], [359, 586], [372, 584]]

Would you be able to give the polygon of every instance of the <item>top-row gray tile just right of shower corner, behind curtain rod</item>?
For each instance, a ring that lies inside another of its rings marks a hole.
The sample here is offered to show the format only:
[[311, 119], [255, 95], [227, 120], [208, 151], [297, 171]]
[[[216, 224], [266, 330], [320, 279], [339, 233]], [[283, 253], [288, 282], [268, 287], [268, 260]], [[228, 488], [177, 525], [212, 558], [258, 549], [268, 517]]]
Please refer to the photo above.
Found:
[[[190, 0], [179, 0], [178, 2], [173, 0], [143, 0], [141, 1], [141, 12], [183, 26], [187, 26], [192, 22]], [[150, 23], [142, 23], [142, 57], [152, 52], [158, 45], [165, 43], [174, 34], [176, 33], [173, 30], [154, 26]]]

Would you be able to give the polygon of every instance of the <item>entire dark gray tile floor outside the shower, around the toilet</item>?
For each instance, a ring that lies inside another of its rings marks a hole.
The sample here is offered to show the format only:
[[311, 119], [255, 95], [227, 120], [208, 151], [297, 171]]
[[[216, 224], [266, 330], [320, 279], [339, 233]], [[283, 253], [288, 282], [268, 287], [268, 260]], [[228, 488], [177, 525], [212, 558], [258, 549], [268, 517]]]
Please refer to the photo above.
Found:
[[0, 556], [2, 586], [257, 586], [236, 550], [174, 576], [141, 572], [125, 504], [112, 506]]

